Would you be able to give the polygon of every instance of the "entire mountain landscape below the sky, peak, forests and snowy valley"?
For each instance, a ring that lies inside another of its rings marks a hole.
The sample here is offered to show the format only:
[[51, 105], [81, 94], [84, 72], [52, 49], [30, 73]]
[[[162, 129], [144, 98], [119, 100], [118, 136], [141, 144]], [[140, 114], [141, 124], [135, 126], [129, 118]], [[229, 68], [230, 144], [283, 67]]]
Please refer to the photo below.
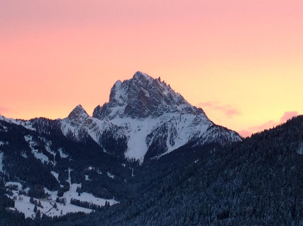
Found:
[[0, 116], [0, 225], [303, 225], [303, 118], [243, 139], [160, 78], [92, 116]]

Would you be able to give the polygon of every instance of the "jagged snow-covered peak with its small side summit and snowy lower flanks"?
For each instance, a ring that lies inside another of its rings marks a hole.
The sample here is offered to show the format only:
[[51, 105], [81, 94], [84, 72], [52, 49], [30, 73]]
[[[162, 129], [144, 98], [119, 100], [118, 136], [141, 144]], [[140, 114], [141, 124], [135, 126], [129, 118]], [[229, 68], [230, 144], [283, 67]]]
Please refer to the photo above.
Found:
[[140, 71], [118, 80], [109, 102], [89, 116], [81, 105], [61, 121], [75, 139], [91, 136], [111, 154], [128, 159], [158, 158], [187, 143], [203, 145], [241, 141], [238, 133], [215, 125], [201, 108], [188, 103], [160, 78]]

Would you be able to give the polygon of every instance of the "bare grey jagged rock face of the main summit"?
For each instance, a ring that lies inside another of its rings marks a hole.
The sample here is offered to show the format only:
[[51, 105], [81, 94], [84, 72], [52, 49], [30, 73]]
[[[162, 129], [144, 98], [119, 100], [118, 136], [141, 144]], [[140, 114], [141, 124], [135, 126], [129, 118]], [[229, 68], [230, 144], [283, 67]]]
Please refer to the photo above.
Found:
[[97, 106], [93, 117], [100, 120], [115, 117], [156, 118], [164, 113], [204, 114], [201, 108], [189, 104], [164, 81], [137, 71], [132, 79], [117, 81], [111, 89], [109, 102]]

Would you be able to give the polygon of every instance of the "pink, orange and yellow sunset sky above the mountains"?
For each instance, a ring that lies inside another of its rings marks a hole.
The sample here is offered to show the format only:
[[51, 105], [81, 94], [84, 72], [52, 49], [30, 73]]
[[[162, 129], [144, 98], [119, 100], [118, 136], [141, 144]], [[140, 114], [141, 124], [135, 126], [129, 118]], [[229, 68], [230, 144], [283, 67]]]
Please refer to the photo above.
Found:
[[303, 113], [302, 28], [302, 1], [0, 1], [0, 114], [92, 114], [140, 70], [246, 136]]

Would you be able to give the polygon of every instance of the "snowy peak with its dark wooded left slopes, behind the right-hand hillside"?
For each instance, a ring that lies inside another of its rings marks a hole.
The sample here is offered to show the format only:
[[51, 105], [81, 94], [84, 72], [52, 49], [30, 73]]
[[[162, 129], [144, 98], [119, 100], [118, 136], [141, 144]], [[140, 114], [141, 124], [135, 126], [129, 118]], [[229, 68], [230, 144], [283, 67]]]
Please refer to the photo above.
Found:
[[[136, 72], [114, 84], [109, 102], [97, 106], [93, 116], [81, 105], [65, 119], [0, 116], [0, 190], [6, 198], [18, 195], [14, 205], [7, 201], [9, 207], [27, 217], [35, 215], [30, 197], [43, 198], [39, 201], [48, 210], [58, 202], [60, 211], [45, 212], [48, 216], [88, 213], [137, 197], [142, 189], [134, 190], [135, 184], [153, 177], [152, 168], [165, 169], [167, 161], [172, 169], [182, 167], [214, 147], [240, 140], [238, 133], [215, 125], [160, 78]], [[204, 144], [210, 145], [200, 147]], [[198, 145], [198, 151], [191, 148]], [[132, 159], [139, 162], [128, 161]]]

